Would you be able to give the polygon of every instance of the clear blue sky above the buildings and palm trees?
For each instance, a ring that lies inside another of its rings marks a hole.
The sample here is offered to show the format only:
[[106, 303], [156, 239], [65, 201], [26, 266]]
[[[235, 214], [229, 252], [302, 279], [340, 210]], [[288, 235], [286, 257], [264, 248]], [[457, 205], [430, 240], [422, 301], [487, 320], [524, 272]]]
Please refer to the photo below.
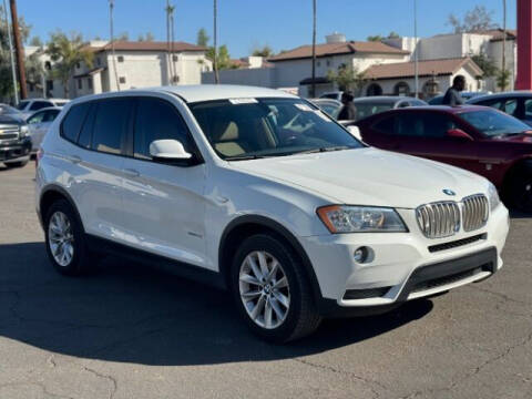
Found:
[[[176, 6], [175, 38], [195, 42], [204, 27], [212, 35], [212, 0], [172, 0]], [[115, 32], [127, 31], [130, 39], [151, 31], [165, 40], [165, 0], [115, 0]], [[318, 0], [318, 42], [332, 31], [350, 40], [370, 34], [413, 34], [413, 0]], [[475, 4], [494, 11], [502, 21], [502, 0], [418, 0], [420, 35], [448, 32], [447, 18]], [[515, 0], [508, 0], [508, 25], [515, 27]], [[51, 31], [80, 31], [84, 38], [109, 37], [108, 0], [18, 0], [18, 10], [32, 34], [47, 39]], [[275, 51], [311, 42], [310, 0], [218, 0], [218, 38], [233, 58], [268, 44]]]

